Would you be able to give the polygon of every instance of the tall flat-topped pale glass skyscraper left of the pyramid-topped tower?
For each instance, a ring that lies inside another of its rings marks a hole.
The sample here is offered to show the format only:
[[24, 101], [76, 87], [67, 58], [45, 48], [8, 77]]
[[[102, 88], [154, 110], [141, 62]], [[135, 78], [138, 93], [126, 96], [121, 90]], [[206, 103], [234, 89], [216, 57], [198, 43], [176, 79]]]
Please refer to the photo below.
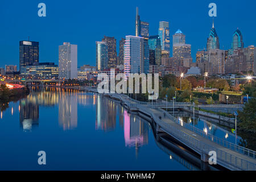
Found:
[[159, 22], [158, 35], [160, 36], [162, 50], [168, 51], [170, 55], [169, 22]]

